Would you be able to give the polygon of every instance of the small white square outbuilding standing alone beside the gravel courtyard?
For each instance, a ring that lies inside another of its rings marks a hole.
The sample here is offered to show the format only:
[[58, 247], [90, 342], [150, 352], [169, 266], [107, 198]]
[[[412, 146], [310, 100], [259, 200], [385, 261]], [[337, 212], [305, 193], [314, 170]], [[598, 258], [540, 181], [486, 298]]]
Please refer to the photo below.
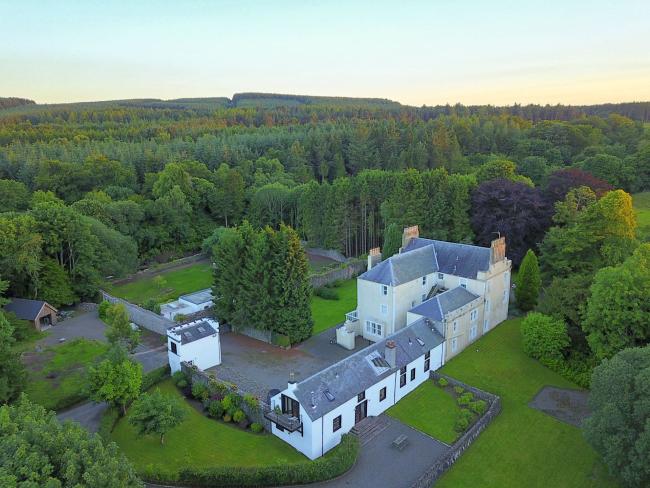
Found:
[[172, 373], [180, 371], [183, 361], [199, 369], [221, 364], [219, 323], [201, 319], [167, 329], [167, 355]]

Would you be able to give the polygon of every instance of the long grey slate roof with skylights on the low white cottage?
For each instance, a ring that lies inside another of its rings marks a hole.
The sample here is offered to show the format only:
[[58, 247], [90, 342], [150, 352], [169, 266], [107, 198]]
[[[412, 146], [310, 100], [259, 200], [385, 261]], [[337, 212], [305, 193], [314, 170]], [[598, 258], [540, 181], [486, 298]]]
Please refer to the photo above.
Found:
[[[424, 345], [420, 345], [418, 339]], [[387, 340], [396, 343], [396, 364], [394, 368], [378, 368], [372, 359], [384, 357]], [[294, 394], [309, 418], [316, 420], [443, 342], [433, 324], [428, 319], [420, 319], [302, 380], [296, 385]], [[333, 400], [328, 399], [326, 392]]]

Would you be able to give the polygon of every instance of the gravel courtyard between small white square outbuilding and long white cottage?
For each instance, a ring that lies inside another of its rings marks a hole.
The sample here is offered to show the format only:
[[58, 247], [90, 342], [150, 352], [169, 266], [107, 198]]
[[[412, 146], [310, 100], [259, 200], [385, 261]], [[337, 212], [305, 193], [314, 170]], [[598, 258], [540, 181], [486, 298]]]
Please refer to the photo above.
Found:
[[357, 337], [357, 347], [348, 351], [330, 344], [334, 336], [335, 329], [329, 329], [284, 350], [241, 334], [221, 334], [221, 364], [208, 371], [266, 399], [269, 390], [285, 389], [292, 373], [300, 381], [369, 345]]

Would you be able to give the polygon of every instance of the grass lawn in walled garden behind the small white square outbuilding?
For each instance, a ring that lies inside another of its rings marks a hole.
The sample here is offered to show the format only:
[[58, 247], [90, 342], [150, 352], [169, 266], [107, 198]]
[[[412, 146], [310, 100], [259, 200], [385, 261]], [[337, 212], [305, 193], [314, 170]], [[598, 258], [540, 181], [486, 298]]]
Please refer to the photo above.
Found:
[[176, 300], [179, 296], [212, 286], [212, 266], [199, 263], [187, 268], [161, 272], [165, 278], [162, 288], [156, 286], [152, 276], [136, 279], [123, 285], [107, 285], [106, 291], [129, 302], [142, 305], [150, 298], [159, 303]]

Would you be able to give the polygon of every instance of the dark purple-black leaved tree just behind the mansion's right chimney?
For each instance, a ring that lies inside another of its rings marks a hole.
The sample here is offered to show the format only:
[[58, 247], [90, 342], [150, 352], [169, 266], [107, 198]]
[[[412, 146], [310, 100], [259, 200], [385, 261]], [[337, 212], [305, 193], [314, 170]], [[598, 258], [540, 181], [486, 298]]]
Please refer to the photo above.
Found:
[[472, 193], [472, 229], [479, 245], [489, 246], [497, 232], [506, 238], [507, 255], [519, 265], [528, 249], [536, 249], [551, 224], [551, 206], [537, 188], [498, 179]]

